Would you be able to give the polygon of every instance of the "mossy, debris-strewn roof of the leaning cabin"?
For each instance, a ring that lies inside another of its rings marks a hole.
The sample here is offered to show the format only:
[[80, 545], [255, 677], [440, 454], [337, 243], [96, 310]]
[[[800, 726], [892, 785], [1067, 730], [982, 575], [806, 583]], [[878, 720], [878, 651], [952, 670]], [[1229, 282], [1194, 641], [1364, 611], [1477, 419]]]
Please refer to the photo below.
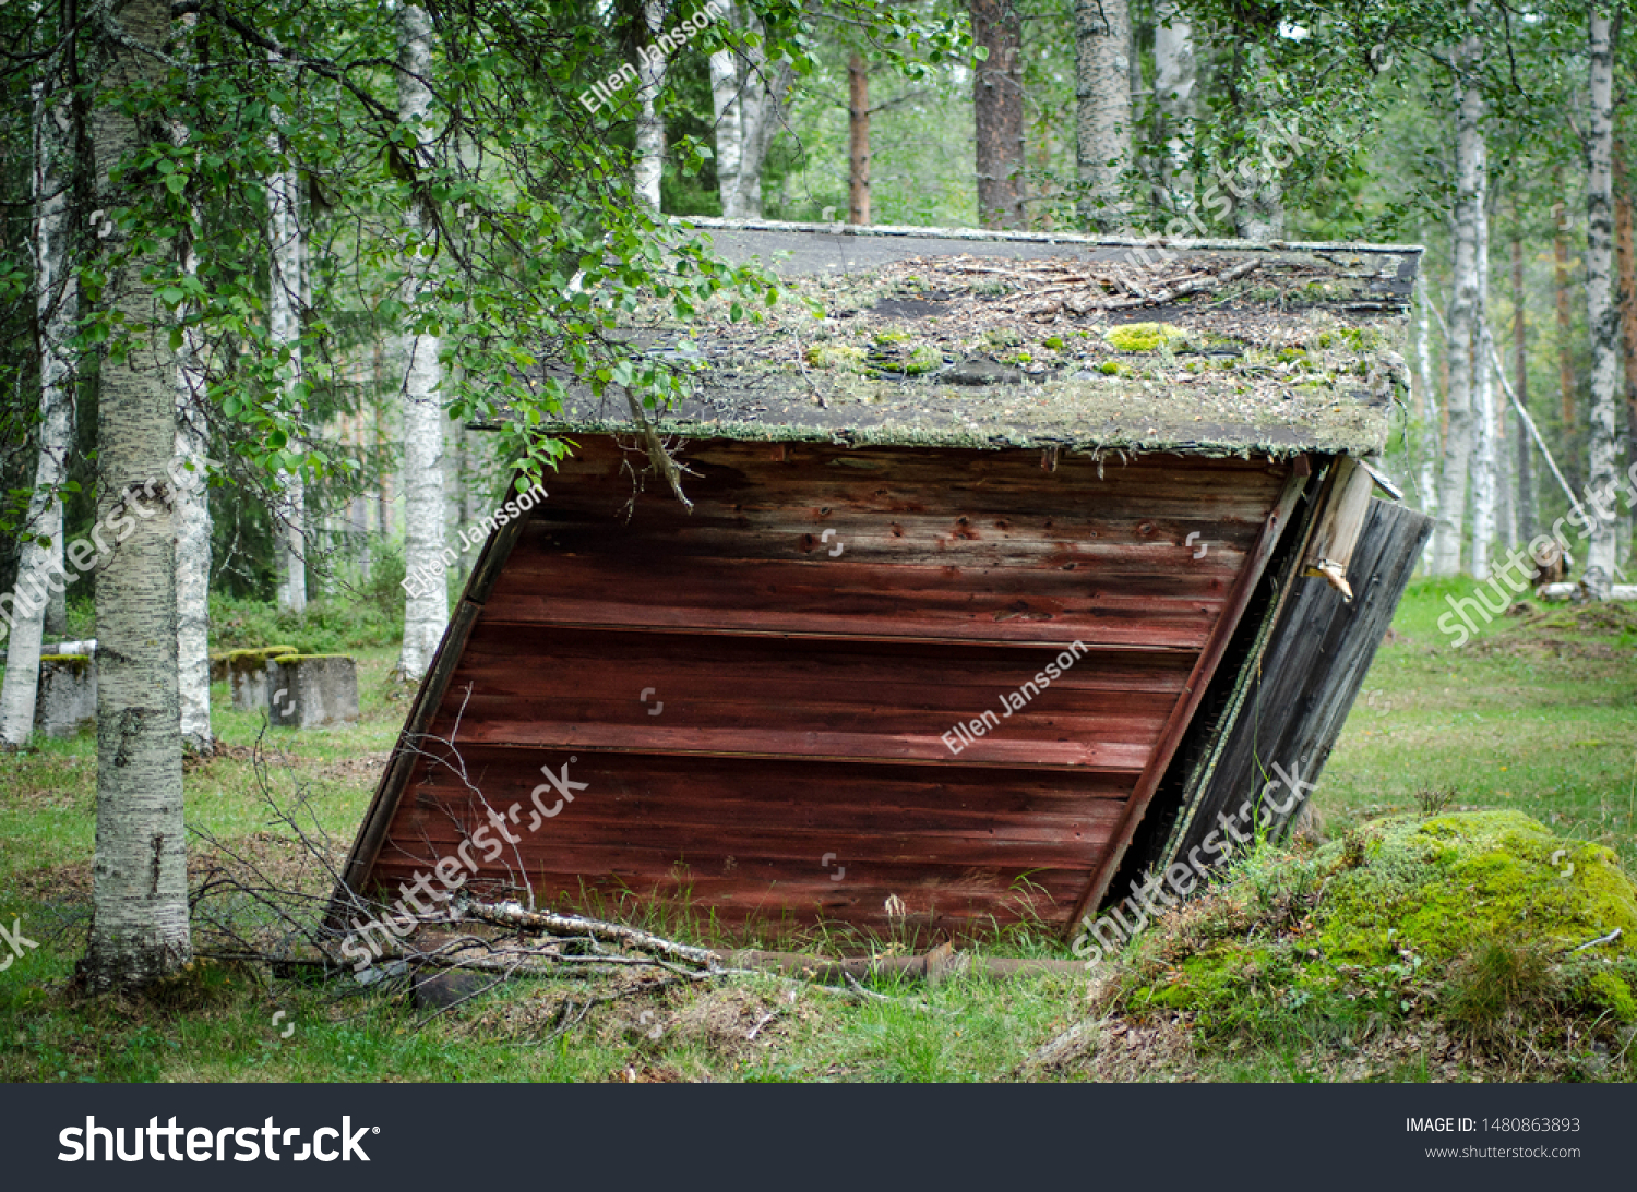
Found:
[[[782, 294], [760, 322], [727, 296], [635, 322], [699, 370], [661, 433], [1372, 455], [1408, 384], [1414, 245], [678, 222]], [[629, 432], [627, 402], [578, 389], [545, 428]]]

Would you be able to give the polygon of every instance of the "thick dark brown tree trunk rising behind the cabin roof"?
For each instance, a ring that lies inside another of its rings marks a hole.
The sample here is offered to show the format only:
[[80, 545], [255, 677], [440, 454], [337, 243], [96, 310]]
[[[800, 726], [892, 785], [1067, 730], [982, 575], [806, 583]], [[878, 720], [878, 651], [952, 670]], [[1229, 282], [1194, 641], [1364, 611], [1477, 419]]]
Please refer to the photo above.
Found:
[[1023, 18], [1017, 0], [971, 0], [972, 43], [989, 57], [972, 70], [977, 126], [977, 222], [1020, 229], [1023, 216]]

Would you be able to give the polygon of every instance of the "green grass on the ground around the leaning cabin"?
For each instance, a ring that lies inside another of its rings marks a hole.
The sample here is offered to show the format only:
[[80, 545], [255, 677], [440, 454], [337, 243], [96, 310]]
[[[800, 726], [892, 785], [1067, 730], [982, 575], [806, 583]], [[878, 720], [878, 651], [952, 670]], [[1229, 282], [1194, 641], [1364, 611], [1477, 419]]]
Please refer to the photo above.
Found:
[[[1637, 623], [1572, 625], [1558, 612], [1539, 621], [1501, 618], [1473, 643], [1450, 649], [1437, 618], [1447, 612], [1445, 595], [1468, 590], [1470, 584], [1418, 584], [1401, 605], [1395, 638], [1380, 649], [1319, 780], [1315, 806], [1324, 831], [1339, 839], [1385, 813], [1414, 809], [1418, 791], [1450, 786], [1452, 809], [1522, 811], [1558, 836], [1608, 845], [1630, 868], [1637, 860]], [[213, 612], [218, 651], [288, 641], [303, 651], [354, 654], [362, 718], [321, 733], [264, 729], [260, 715], [232, 711], [218, 685], [214, 728], [228, 749], [190, 765], [190, 824], [260, 857], [275, 850], [277, 826], [257, 796], [249, 760], [260, 737], [273, 793], [286, 804], [300, 801], [344, 850], [411, 698], [391, 679], [396, 648], [390, 634], [362, 602], [350, 612], [319, 607], [308, 618], [280, 618], [260, 605], [218, 603]], [[1454, 1058], [1388, 1048], [1369, 1064], [1344, 1061], [1360, 1038], [1380, 1038], [1382, 1020], [1370, 1017], [1372, 1007], [1305, 1002], [1300, 983], [1272, 979], [1257, 986], [1265, 997], [1246, 1009], [1244, 1020], [1223, 1030], [1202, 1028], [1187, 1006], [1152, 1004], [1154, 997], [1148, 1006], [1110, 1002], [1103, 989], [1102, 1001], [1092, 1001], [1089, 994], [1098, 991], [1079, 975], [1008, 983], [961, 978], [936, 988], [874, 983], [891, 1002], [774, 976], [666, 988], [629, 975], [561, 976], [512, 983], [424, 1025], [426, 1012], [403, 996], [244, 966], [200, 966], [154, 999], [77, 999], [65, 983], [87, 925], [95, 847], [92, 736], [0, 754], [0, 925], [10, 927], [16, 916], [23, 934], [41, 945], [0, 971], [5, 1081], [995, 1081], [1179, 1073], [1238, 1081], [1431, 1081], [1495, 1074], [1459, 1048]], [[1259, 863], [1265, 872], [1242, 880], [1275, 888], [1278, 875], [1290, 873], [1277, 858], [1264, 855]], [[638, 917], [689, 939], [709, 929], [697, 907], [650, 909]], [[812, 950], [846, 943], [812, 932], [789, 942]], [[923, 945], [905, 940], [899, 948]], [[1003, 955], [1069, 955], [1028, 930], [985, 947]], [[1498, 953], [1472, 960], [1480, 975], [1519, 963]], [[1468, 986], [1475, 1007], [1468, 1012], [1493, 1012], [1478, 999], [1485, 981]], [[591, 994], [619, 997], [557, 1033]], [[1103, 1015], [1094, 1030], [1095, 1061], [1084, 1048], [1071, 1048], [1061, 1063], [1031, 1061], [1036, 1048], [1089, 1009]], [[295, 1032], [286, 1038], [290, 1024]], [[755, 1038], [746, 1038], [753, 1030]], [[1565, 1063], [1554, 1069], [1557, 1076], [1598, 1074], [1594, 1066], [1576, 1068], [1578, 1060]]]

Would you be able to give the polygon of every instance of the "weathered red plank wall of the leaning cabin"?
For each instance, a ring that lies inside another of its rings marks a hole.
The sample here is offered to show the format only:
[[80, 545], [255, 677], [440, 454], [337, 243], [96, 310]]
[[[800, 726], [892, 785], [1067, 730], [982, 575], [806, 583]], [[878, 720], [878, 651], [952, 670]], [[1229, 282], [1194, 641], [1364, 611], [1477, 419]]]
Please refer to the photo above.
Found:
[[[427, 872], [485, 801], [527, 809], [540, 767], [568, 764], [586, 788], [514, 824], [486, 878], [557, 904], [686, 898], [725, 924], [887, 927], [894, 899], [940, 930], [1066, 929], [1293, 491], [1288, 463], [1161, 455], [683, 455], [692, 513], [652, 476], [637, 489], [640, 453], [586, 438], [491, 543], [349, 885]], [[949, 751], [956, 721], [999, 716], [1076, 641], [1061, 679]], [[440, 752], [419, 733], [453, 737], [465, 777], [416, 755]]]

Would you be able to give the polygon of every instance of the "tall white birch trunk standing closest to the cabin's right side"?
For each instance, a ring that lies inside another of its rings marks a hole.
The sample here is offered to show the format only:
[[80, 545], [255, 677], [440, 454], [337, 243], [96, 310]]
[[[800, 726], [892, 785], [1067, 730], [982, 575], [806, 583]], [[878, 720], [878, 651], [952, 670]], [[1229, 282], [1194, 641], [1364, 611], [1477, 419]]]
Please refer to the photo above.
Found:
[[[1468, 5], [1468, 13], [1472, 5]], [[1473, 363], [1478, 347], [1478, 231], [1483, 222], [1485, 146], [1478, 121], [1483, 95], [1478, 90], [1478, 36], [1462, 43], [1455, 77], [1455, 299], [1449, 307], [1449, 391], [1444, 433], [1444, 468], [1439, 474], [1437, 510], [1432, 528], [1432, 574], [1460, 572], [1460, 548], [1467, 520], [1467, 476], [1473, 448]]]

